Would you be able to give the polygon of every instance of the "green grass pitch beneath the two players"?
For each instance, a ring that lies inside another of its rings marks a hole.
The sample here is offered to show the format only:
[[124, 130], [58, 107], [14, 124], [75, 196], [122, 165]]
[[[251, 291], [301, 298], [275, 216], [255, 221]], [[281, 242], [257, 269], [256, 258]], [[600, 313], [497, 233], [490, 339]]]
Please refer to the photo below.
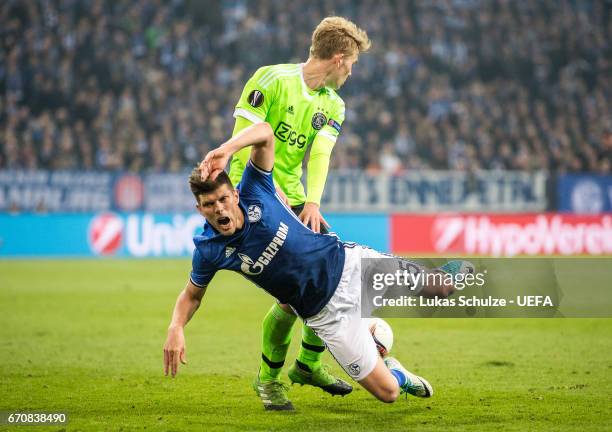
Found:
[[[432, 399], [385, 405], [359, 387], [332, 398], [294, 386], [294, 413], [265, 412], [251, 381], [273, 300], [226, 272], [187, 326], [189, 364], [164, 377], [162, 345], [189, 269], [188, 260], [1, 261], [0, 410], [70, 418], [12, 430], [612, 428], [611, 319], [389, 320], [393, 354], [431, 381]], [[327, 353], [325, 362], [348, 378]]]

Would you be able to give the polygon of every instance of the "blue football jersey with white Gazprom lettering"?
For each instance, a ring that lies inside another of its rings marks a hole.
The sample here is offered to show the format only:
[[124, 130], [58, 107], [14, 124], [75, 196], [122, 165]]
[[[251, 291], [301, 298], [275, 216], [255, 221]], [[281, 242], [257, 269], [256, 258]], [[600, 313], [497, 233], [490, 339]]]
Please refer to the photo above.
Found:
[[249, 161], [239, 186], [244, 226], [223, 236], [208, 223], [194, 237], [191, 281], [205, 286], [217, 270], [233, 270], [303, 318], [334, 294], [344, 267], [344, 244], [306, 228], [276, 195], [272, 173]]

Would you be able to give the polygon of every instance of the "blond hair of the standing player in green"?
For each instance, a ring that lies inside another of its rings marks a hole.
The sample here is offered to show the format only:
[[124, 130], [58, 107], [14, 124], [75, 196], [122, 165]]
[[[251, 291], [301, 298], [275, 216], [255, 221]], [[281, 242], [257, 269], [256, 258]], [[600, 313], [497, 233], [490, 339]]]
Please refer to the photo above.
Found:
[[367, 51], [371, 42], [365, 30], [342, 17], [327, 17], [312, 33], [310, 56], [322, 60], [334, 54], [353, 55]]

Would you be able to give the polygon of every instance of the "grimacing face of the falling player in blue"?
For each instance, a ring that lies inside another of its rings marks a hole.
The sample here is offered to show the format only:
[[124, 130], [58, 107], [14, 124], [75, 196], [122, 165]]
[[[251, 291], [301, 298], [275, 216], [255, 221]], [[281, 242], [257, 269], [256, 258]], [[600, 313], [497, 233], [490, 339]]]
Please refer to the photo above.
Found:
[[213, 192], [199, 195], [196, 208], [221, 235], [229, 236], [244, 225], [238, 202], [238, 191], [223, 184]]

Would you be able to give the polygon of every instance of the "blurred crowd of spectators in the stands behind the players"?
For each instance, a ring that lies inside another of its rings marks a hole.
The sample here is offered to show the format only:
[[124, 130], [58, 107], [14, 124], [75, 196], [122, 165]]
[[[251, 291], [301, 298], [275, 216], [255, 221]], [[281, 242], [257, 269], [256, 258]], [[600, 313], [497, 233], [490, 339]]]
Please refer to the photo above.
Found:
[[4, 0], [0, 168], [193, 166], [327, 15], [373, 41], [334, 168], [612, 172], [605, 0]]

